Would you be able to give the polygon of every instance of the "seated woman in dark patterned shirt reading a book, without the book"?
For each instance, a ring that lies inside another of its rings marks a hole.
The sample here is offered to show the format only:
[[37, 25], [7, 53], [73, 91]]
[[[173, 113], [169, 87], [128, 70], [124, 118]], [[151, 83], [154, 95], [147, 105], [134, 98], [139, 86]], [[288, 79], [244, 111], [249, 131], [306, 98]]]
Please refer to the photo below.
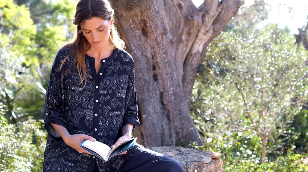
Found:
[[85, 140], [115, 146], [139, 124], [132, 57], [107, 0], [80, 0], [73, 42], [59, 50], [44, 107], [43, 171], [184, 171], [174, 159], [136, 144], [108, 162], [79, 147]]

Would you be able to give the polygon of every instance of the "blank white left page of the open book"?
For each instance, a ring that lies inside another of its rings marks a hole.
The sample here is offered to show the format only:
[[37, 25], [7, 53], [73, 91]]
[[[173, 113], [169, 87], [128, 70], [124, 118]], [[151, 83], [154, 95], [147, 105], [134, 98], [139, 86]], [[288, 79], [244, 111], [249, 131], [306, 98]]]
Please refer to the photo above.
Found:
[[86, 140], [82, 146], [93, 150], [97, 154], [99, 154], [101, 157], [107, 160], [107, 156], [111, 148], [107, 146], [106, 144], [103, 144], [99, 141], [92, 142], [90, 140]]

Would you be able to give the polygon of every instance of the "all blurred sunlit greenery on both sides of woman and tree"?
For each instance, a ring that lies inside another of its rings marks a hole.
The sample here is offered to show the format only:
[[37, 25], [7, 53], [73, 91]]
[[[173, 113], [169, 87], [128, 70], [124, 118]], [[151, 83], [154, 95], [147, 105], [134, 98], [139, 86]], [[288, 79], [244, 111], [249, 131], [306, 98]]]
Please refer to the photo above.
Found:
[[[0, 171], [41, 171], [46, 88], [74, 8], [0, 2]], [[308, 171], [307, 50], [297, 39], [308, 29], [258, 25], [268, 12], [262, 0], [243, 6], [208, 46], [194, 85], [191, 115], [205, 145], [190, 147], [221, 153], [223, 171]]]

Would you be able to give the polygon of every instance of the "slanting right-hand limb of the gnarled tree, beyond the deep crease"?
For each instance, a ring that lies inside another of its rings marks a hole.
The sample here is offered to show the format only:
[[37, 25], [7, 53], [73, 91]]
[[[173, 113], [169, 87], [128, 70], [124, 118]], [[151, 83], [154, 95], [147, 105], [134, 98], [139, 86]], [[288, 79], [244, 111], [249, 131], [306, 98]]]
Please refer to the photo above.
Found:
[[209, 42], [225, 28], [238, 8], [244, 2], [240, 0], [205, 0], [198, 8], [197, 16], [202, 19], [201, 29], [198, 31], [183, 64], [182, 86], [188, 105], [191, 101], [193, 84], [197, 77], [198, 67]]

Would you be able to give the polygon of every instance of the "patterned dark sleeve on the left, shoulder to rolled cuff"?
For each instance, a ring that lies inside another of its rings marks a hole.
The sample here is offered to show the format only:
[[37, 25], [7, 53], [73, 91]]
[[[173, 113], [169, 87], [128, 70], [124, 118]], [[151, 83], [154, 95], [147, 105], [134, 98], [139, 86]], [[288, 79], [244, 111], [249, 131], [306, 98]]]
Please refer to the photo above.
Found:
[[[61, 62], [59, 60], [59, 56], [61, 54], [61, 50], [58, 52], [55, 61], [51, 68], [51, 74], [49, 78], [49, 83], [47, 87], [46, 92], [46, 98], [45, 98], [45, 106], [44, 106], [44, 127], [47, 130], [48, 134], [51, 134], [54, 138], [59, 138], [59, 133], [50, 125], [50, 123], [53, 124], [59, 124], [61, 126], [66, 126], [66, 120], [63, 115], [64, 109], [63, 109], [63, 85], [62, 85], [62, 79], [59, 73], [59, 67], [61, 65]], [[63, 54], [62, 54], [63, 55]]]

